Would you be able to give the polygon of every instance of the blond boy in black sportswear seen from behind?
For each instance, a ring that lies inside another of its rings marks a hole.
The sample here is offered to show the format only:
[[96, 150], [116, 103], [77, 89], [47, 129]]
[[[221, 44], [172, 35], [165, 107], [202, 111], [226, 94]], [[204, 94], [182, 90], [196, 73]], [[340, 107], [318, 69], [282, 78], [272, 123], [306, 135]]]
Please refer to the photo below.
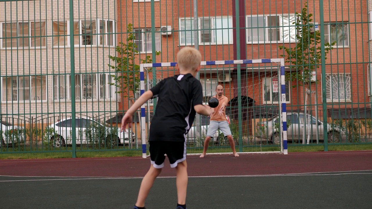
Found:
[[201, 54], [192, 47], [182, 48], [177, 53], [176, 69], [180, 74], [165, 78], [146, 91], [125, 113], [121, 129], [132, 125], [132, 114], [147, 100], [158, 98], [158, 105], [150, 125], [149, 151], [151, 166], [142, 180], [134, 209], [144, 209], [145, 199], [155, 178], [164, 166], [165, 156], [171, 168], [176, 168], [177, 208], [186, 209], [187, 164], [186, 135], [195, 114], [209, 116], [214, 110], [202, 105], [202, 85], [195, 78], [201, 68]]

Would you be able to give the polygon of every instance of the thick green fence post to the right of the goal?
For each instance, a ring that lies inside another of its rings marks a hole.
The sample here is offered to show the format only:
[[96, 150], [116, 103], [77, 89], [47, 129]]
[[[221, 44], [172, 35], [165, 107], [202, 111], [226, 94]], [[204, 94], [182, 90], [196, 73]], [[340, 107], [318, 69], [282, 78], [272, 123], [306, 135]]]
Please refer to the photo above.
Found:
[[[325, 83], [325, 48], [324, 48], [324, 11], [323, 0], [319, 0], [319, 16], [320, 16], [320, 50], [321, 50], [321, 69], [322, 69], [322, 98], [323, 98], [323, 134], [324, 134], [324, 151], [328, 151], [328, 135], [327, 135], [327, 86]], [[316, 98], [315, 98], [316, 99]]]

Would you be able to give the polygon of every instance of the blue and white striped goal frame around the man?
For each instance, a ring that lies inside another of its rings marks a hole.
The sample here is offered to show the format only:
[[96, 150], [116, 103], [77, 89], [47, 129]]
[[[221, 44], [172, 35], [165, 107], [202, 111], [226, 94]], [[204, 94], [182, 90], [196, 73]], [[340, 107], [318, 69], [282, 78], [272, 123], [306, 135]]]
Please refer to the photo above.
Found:
[[[287, 148], [287, 117], [286, 117], [286, 96], [285, 96], [285, 71], [284, 71], [284, 59], [283, 58], [276, 58], [276, 59], [256, 59], [256, 60], [221, 60], [221, 61], [202, 61], [201, 65], [231, 65], [231, 64], [254, 64], [254, 63], [277, 63], [280, 66], [278, 74], [280, 78], [278, 79], [279, 83], [279, 91], [281, 93], [279, 102], [280, 109], [280, 120], [282, 123], [280, 124], [280, 136], [282, 139], [282, 143], [280, 143], [280, 152], [283, 154], [288, 154]], [[146, 67], [175, 67], [177, 62], [160, 62], [160, 63], [145, 63], [140, 64], [140, 90], [141, 95], [145, 92], [145, 75], [144, 75], [144, 68]], [[145, 121], [145, 104], [141, 106], [141, 141], [142, 141], [142, 157], [146, 158], [146, 121]], [[149, 121], [150, 122], [150, 121]], [[238, 152], [239, 153], [239, 152]], [[261, 152], [260, 152], [261, 153]]]

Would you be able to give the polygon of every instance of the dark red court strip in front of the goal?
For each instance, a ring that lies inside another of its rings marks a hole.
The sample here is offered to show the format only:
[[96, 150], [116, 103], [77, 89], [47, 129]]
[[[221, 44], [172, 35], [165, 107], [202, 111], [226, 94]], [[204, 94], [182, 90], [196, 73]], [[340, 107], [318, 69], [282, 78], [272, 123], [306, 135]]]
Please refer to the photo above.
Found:
[[[190, 177], [365, 171], [372, 170], [372, 151], [188, 155], [187, 165]], [[143, 177], [149, 167], [149, 157], [0, 160], [0, 176]], [[175, 176], [167, 158], [160, 176]]]

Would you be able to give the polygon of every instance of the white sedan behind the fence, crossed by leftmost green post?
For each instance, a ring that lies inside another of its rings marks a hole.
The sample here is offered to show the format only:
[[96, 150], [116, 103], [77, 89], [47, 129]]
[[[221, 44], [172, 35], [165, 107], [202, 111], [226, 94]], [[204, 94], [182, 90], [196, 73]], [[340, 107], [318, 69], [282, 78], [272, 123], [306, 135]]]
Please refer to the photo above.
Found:
[[[51, 134], [51, 137], [50, 137], [50, 141], [51, 143], [53, 143], [55, 147], [60, 147], [61, 145], [64, 146], [65, 144], [72, 144], [72, 138], [71, 138], [71, 133], [73, 131], [71, 127], [72, 120], [73, 120], [72, 118], [64, 118], [62, 120], [59, 120], [56, 123], [49, 125], [49, 128], [54, 129], [55, 134], [57, 135], [55, 136], [54, 134]], [[76, 144], [89, 144], [89, 141], [87, 140], [87, 137], [86, 137], [86, 135], [89, 135], [89, 134], [86, 134], [86, 133], [92, 133], [91, 130], [93, 130], [93, 128], [89, 128], [89, 127], [99, 127], [99, 126], [101, 128], [104, 127], [105, 131], [102, 134], [104, 134], [105, 139], [112, 138], [111, 135], [108, 135], [108, 132], [110, 131], [110, 129], [111, 130], [113, 129], [112, 131], [118, 132], [117, 133], [118, 138], [112, 139], [112, 140], [115, 140], [115, 144], [113, 144], [113, 146], [129, 144], [128, 130], [124, 132], [120, 132], [120, 128], [114, 128], [114, 127], [110, 128], [107, 125], [103, 125], [102, 123], [89, 117], [81, 117], [81, 118], [76, 117], [75, 124], [76, 124], [76, 130], [75, 130], [76, 131]], [[89, 125], [92, 125], [92, 126], [89, 126]], [[87, 130], [87, 127], [88, 127], [88, 130]], [[94, 132], [99, 134], [98, 130], [94, 130]], [[132, 132], [131, 135], [132, 135], [131, 136], [132, 141], [134, 141], [135, 139], [134, 133]]]

